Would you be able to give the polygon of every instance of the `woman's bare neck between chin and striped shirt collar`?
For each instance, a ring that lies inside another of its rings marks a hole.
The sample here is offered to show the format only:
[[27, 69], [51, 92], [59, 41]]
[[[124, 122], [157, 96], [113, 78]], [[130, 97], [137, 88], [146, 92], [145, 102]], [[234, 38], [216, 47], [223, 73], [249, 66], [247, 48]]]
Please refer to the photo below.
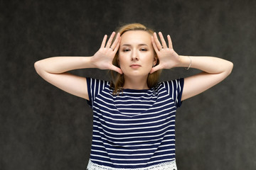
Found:
[[130, 79], [129, 77], [124, 76], [124, 79], [125, 79], [124, 86], [123, 86], [124, 89], [135, 89], [135, 90], [149, 89], [146, 83], [147, 77]]

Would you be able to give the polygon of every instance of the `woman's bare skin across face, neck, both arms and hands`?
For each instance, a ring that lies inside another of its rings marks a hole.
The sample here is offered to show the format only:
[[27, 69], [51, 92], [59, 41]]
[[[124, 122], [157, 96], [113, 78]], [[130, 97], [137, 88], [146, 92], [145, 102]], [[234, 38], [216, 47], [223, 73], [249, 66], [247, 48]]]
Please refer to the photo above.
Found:
[[[233, 69], [232, 62], [218, 57], [178, 55], [174, 51], [170, 35], [167, 35], [166, 43], [161, 33], [158, 34], [159, 40], [156, 33], [151, 36], [145, 31], [130, 30], [124, 33], [122, 37], [117, 33], [117, 37], [111, 45], [114, 35], [113, 32], [109, 40], [105, 35], [100, 49], [92, 57], [50, 57], [35, 63], [36, 72], [59, 89], [89, 100], [85, 77], [78, 77], [68, 73], [68, 71], [85, 68], [112, 69], [119, 74], [124, 74], [124, 88], [148, 89], [146, 86], [148, 74], [159, 69], [188, 67], [191, 64], [191, 68], [200, 69], [202, 72], [184, 79], [181, 97], [183, 101], [201, 94], [223, 81]], [[129, 49], [125, 50], [127, 47]], [[142, 47], [147, 47], [147, 51], [142, 50]], [[159, 59], [159, 64], [156, 67], [152, 67], [156, 62], [156, 56], [153, 55], [152, 49], [155, 50]], [[117, 50], [119, 50], [121, 69], [112, 64]], [[131, 67], [131, 64], [139, 64], [140, 66]]]

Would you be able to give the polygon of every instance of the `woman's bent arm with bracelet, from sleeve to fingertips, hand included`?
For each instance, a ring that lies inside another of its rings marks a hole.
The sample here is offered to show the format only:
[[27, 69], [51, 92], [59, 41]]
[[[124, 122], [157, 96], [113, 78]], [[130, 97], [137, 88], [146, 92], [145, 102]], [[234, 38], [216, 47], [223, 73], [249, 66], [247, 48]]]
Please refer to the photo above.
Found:
[[159, 33], [161, 43], [157, 39], [156, 33], [151, 38], [154, 50], [159, 57], [159, 65], [151, 70], [155, 72], [158, 69], [171, 69], [173, 67], [188, 67], [200, 69], [203, 72], [192, 77], [184, 79], [183, 94], [181, 100], [191, 98], [201, 94], [210, 87], [218, 84], [228, 77], [233, 69], [233, 63], [217, 57], [192, 57], [178, 55], [171, 43], [171, 37], [168, 35], [169, 47], [166, 45], [164, 37]]

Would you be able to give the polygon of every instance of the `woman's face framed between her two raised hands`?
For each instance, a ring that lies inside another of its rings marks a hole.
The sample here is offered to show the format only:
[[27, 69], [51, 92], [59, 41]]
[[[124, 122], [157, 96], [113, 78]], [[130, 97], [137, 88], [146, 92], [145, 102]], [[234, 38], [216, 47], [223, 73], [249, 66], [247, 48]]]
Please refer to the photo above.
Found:
[[119, 65], [128, 77], [147, 77], [156, 64], [151, 35], [144, 30], [129, 30], [121, 36]]

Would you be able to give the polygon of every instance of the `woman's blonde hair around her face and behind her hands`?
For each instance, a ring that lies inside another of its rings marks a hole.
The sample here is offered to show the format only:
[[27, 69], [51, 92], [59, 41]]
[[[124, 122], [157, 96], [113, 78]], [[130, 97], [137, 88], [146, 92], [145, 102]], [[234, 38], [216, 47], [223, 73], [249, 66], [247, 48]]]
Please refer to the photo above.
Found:
[[[154, 34], [154, 30], [151, 30], [150, 28], [146, 28], [146, 26], [142, 25], [141, 23], [129, 23], [127, 25], [120, 27], [116, 31], [116, 33], [120, 33], [120, 35], [122, 35], [129, 30], [144, 30], [144, 31], [148, 32], [150, 35]], [[114, 42], [114, 40], [113, 40], [113, 42]], [[156, 56], [156, 52], [154, 52], [154, 55]], [[156, 65], [157, 64], [159, 64], [158, 59], [157, 59]], [[114, 56], [113, 65], [119, 67], [118, 52]], [[113, 94], [118, 95], [122, 91], [122, 87], [124, 86], [124, 74], [119, 74], [112, 70], [110, 70], [110, 73], [112, 76], [112, 81], [110, 83], [110, 87], [112, 89], [114, 89]], [[154, 87], [158, 83], [160, 74], [161, 74], [161, 70], [158, 70], [152, 74], [149, 74], [147, 81], [146, 81], [146, 84], [149, 88]]]

